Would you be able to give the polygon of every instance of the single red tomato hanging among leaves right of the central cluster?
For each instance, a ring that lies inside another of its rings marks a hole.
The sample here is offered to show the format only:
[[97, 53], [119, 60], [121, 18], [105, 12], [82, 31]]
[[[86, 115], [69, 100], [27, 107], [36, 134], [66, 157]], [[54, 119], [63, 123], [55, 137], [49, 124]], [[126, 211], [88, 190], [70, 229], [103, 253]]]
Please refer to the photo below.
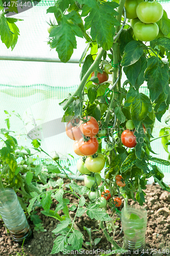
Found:
[[127, 147], [136, 146], [136, 136], [134, 136], [133, 131], [125, 130], [121, 135], [121, 140], [124, 146], [127, 146]]

